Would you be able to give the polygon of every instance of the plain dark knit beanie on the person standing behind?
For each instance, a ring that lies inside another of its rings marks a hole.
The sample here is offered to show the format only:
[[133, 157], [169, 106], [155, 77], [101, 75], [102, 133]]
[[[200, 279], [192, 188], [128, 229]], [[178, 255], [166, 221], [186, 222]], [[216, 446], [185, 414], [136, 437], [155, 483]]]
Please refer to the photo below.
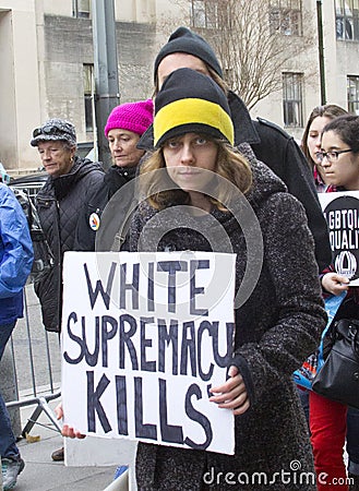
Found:
[[157, 55], [154, 67], [155, 81], [159, 63], [167, 55], [171, 55], [172, 52], [186, 52], [187, 55], [200, 58], [223, 77], [220, 64], [208, 43], [187, 27], [178, 27], [178, 29], [169, 36], [167, 45], [165, 45]]

